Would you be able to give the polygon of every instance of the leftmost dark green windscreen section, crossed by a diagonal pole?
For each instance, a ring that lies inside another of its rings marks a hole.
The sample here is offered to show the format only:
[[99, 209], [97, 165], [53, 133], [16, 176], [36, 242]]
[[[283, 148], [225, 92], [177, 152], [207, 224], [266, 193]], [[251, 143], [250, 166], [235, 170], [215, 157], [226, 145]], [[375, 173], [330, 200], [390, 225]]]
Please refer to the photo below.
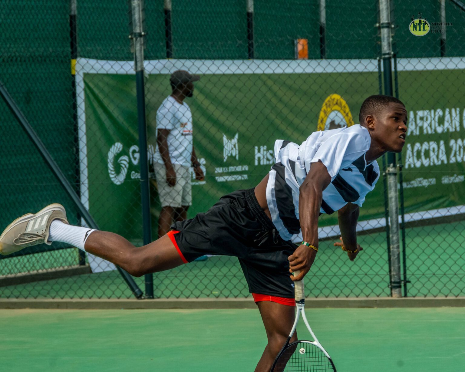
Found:
[[[1, 12], [0, 80], [78, 187], [69, 4], [41, 0], [31, 8], [29, 1], [6, 0]], [[62, 186], [3, 100], [0, 133], [0, 226], [53, 201], [69, 206]], [[72, 208], [69, 213], [70, 221], [77, 222]]]

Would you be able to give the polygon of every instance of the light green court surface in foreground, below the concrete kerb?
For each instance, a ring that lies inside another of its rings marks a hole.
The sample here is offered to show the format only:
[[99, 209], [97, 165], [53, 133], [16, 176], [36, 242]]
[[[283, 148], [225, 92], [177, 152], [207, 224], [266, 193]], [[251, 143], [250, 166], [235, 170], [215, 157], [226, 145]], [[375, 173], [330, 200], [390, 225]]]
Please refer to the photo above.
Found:
[[[463, 308], [311, 306], [338, 372], [464, 371]], [[0, 337], [1, 370], [12, 372], [253, 371], [266, 344], [255, 309], [0, 310]]]

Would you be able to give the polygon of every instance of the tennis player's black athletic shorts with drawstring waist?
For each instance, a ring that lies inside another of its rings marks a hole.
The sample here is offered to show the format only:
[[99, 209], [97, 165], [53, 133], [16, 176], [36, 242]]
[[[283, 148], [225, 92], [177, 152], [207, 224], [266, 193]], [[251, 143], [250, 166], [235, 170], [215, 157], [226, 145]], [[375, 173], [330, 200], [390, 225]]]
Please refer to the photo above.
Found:
[[279, 236], [254, 189], [225, 195], [208, 212], [171, 228], [170, 238], [185, 262], [204, 254], [238, 257], [251, 293], [294, 298], [287, 257], [297, 246]]

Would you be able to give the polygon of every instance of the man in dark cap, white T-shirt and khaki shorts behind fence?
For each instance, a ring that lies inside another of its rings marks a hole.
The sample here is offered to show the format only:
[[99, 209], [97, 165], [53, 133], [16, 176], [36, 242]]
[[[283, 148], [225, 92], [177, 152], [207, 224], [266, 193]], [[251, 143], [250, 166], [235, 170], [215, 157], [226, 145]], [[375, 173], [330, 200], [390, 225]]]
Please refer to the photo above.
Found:
[[174, 222], [187, 218], [187, 209], [192, 205], [190, 167], [194, 168], [195, 179], [204, 179], [193, 147], [192, 112], [184, 102], [186, 97], [193, 96], [193, 82], [199, 79], [198, 75], [184, 70], [172, 73], [172, 93], [157, 110], [158, 146], [153, 157], [153, 167], [161, 203], [159, 237], [170, 231]]

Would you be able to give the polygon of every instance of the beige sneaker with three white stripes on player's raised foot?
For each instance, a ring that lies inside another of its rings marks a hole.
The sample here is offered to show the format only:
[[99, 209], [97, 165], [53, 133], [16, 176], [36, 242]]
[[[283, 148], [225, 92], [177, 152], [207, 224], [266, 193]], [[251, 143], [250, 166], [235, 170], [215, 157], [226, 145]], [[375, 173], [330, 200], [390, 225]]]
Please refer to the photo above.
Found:
[[54, 219], [69, 224], [61, 204], [50, 204], [35, 214], [27, 213], [15, 219], [0, 235], [0, 254], [11, 254], [37, 244], [52, 244], [47, 239]]

